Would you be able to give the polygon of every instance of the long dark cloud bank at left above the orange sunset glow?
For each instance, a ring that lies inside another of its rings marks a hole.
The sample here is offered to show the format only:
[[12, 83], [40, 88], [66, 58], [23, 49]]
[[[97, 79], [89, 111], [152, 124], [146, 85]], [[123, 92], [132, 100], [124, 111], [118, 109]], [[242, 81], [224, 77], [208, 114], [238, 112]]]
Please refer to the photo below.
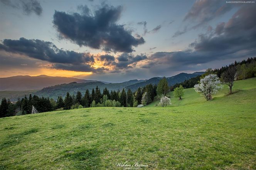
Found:
[[54, 63], [93, 63], [94, 58], [89, 53], [77, 53], [74, 51], [61, 50], [51, 42], [42, 40], [19, 40], [5, 39], [0, 44], [0, 50], [11, 53], [19, 53], [39, 60]]

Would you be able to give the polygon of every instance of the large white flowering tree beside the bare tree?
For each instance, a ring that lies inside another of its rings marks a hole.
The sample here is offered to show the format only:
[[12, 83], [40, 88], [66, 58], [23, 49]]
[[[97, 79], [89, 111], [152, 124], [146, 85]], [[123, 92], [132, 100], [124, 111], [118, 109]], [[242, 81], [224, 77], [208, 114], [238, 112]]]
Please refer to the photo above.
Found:
[[205, 99], [212, 100], [212, 94], [222, 89], [221, 81], [216, 74], [210, 74], [200, 80], [199, 84], [194, 86], [195, 92], [200, 93]]

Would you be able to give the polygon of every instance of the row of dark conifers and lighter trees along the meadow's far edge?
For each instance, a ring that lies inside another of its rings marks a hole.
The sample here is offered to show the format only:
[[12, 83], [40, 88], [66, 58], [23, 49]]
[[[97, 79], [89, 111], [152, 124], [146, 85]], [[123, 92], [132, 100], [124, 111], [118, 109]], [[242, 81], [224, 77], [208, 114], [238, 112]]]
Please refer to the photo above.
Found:
[[124, 88], [121, 91], [111, 90], [109, 92], [107, 88], [104, 88], [101, 93], [101, 90], [97, 86], [91, 92], [87, 89], [84, 95], [80, 91], [76, 95], [71, 95], [67, 92], [65, 98], [59, 96], [57, 100], [49, 97], [39, 97], [37, 95], [32, 96], [30, 94], [29, 97], [25, 95], [24, 98], [21, 100], [18, 99], [15, 103], [3, 98], [0, 105], [0, 117], [30, 114], [32, 106], [39, 113], [87, 107], [137, 107], [141, 103], [144, 105], [151, 103], [156, 95], [157, 85], [152, 84], [142, 88], [139, 87], [135, 92], [132, 92], [130, 89], [126, 92]]

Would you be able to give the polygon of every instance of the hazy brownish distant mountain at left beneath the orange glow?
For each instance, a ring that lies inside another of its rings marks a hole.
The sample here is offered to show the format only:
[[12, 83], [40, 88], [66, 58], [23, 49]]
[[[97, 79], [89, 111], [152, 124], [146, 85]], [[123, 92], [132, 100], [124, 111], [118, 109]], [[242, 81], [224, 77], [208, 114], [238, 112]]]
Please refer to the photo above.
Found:
[[0, 91], [39, 90], [44, 87], [71, 82], [86, 83], [96, 81], [83, 80], [72, 77], [52, 77], [47, 75], [18, 75], [13, 77], [0, 78]]

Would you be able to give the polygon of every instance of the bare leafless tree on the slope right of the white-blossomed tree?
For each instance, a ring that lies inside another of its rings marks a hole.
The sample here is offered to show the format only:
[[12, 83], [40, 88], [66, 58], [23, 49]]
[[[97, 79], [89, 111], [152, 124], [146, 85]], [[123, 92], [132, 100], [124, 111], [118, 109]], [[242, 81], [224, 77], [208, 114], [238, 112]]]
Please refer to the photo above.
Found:
[[231, 66], [221, 74], [221, 80], [224, 84], [229, 86], [229, 94], [232, 94], [232, 87], [237, 77], [236, 67]]

